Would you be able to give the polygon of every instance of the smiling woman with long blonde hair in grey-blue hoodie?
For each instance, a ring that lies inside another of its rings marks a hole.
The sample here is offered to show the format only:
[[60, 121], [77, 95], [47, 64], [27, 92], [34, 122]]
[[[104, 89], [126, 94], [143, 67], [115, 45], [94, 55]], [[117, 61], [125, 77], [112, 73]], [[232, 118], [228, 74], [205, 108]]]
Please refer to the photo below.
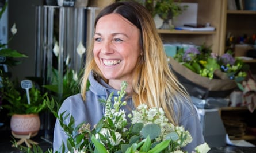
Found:
[[[86, 52], [81, 93], [64, 100], [59, 114], [72, 115], [75, 126], [86, 122], [93, 128], [106, 116], [106, 105], [114, 107], [120, 84], [126, 81], [125, 95], [119, 99], [126, 102], [120, 107], [126, 115], [140, 104], [162, 108], [169, 123], [184, 127], [192, 135], [193, 141], [182, 149], [192, 152], [203, 144], [196, 109], [169, 68], [161, 38], [147, 9], [133, 1], [112, 3], [95, 18], [94, 28], [94, 40]], [[102, 104], [106, 99], [110, 104]], [[57, 120], [55, 124], [54, 151], [62, 144], [67, 146], [63, 123], [68, 125], [70, 121]]]

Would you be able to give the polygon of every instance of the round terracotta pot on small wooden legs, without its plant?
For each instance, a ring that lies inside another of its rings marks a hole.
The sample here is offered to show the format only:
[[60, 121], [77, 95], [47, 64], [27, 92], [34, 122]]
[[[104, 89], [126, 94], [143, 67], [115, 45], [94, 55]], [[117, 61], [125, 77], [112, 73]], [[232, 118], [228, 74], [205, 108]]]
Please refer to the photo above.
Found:
[[14, 114], [11, 117], [10, 128], [17, 135], [35, 134], [40, 129], [38, 114]]

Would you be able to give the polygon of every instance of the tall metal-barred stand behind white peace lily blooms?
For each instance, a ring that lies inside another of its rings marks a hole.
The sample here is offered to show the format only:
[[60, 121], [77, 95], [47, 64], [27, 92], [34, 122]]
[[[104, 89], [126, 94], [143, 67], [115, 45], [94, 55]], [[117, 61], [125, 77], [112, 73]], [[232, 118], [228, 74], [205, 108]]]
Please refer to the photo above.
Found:
[[[79, 44], [87, 48], [94, 34], [94, 20], [97, 7], [36, 7], [36, 74], [43, 85], [51, 84], [52, 69], [58, 70], [58, 99], [63, 96], [63, 73], [65, 68], [79, 70], [85, 63], [85, 54], [77, 53]], [[54, 46], [58, 45], [58, 56]], [[67, 65], [67, 58], [69, 63]], [[42, 124], [45, 128], [44, 140], [52, 138], [54, 129], [51, 112], [46, 112]]]

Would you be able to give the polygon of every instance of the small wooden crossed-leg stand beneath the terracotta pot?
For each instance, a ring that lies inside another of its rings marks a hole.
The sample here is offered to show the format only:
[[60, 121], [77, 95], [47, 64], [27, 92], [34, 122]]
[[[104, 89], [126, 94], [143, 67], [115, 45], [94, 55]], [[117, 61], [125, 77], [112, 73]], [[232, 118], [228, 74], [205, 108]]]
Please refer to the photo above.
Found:
[[[18, 135], [18, 134], [15, 134], [13, 131], [12, 131], [12, 135], [14, 136], [14, 138], [18, 138], [20, 140], [18, 140], [18, 142], [16, 143], [17, 145], [20, 145], [22, 143], [26, 143], [26, 146], [28, 147], [32, 147], [33, 144], [38, 144], [37, 142], [34, 142], [33, 140], [30, 140], [30, 138], [34, 137], [37, 135], [37, 132], [36, 133], [29, 133], [28, 135]], [[15, 145], [13, 144], [12, 147], [15, 147]]]

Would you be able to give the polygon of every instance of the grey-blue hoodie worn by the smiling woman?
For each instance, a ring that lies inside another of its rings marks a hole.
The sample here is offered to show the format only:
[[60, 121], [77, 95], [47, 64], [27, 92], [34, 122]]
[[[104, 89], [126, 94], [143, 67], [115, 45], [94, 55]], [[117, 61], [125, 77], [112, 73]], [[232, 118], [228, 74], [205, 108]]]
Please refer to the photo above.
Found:
[[[59, 113], [66, 111], [70, 113], [75, 119], [75, 126], [82, 122], [90, 123], [91, 127], [98, 123], [98, 121], [104, 116], [105, 108], [104, 105], [99, 101], [100, 99], [106, 100], [111, 92], [114, 92], [113, 97], [117, 96], [117, 90], [110, 87], [102, 79], [95, 79], [93, 73], [89, 76], [90, 88], [86, 92], [86, 101], [83, 101], [81, 94], [73, 95], [68, 97], [63, 101], [62, 106], [59, 109]], [[132, 104], [132, 99], [129, 98], [127, 105], [121, 109], [129, 114], [135, 107]], [[192, 135], [193, 141], [189, 143], [184, 150], [194, 151], [194, 148], [204, 143], [204, 138], [202, 136], [200, 121], [198, 120], [198, 115], [196, 110], [191, 110], [191, 107], [185, 105], [181, 101], [180, 103], [180, 113], [179, 125], [184, 126], [185, 130], [188, 130]], [[174, 108], [175, 109], [175, 108]], [[177, 108], [176, 108], [177, 109]], [[175, 111], [177, 112], [177, 111]], [[65, 121], [68, 124], [69, 119]], [[54, 152], [59, 150], [62, 142], [66, 144], [67, 135], [63, 132], [62, 127], [60, 127], [59, 121], [56, 121], [54, 129]]]

